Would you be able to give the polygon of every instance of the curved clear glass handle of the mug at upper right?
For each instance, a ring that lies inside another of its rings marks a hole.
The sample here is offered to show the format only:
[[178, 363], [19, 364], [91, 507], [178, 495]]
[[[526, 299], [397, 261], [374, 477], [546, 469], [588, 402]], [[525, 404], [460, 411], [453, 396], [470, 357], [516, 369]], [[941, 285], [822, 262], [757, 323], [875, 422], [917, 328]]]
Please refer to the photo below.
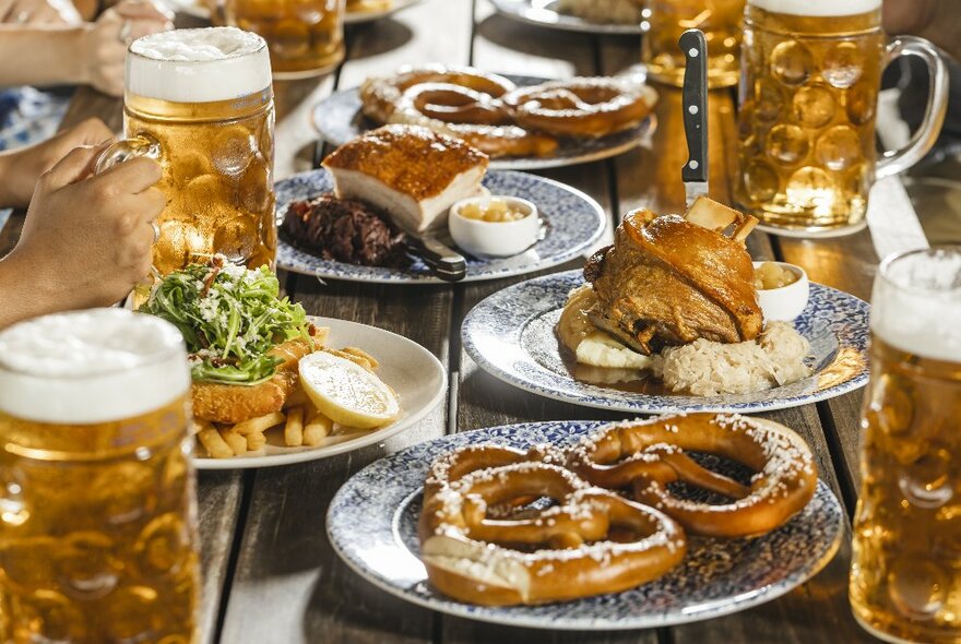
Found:
[[878, 160], [876, 177], [882, 179], [911, 168], [934, 147], [945, 124], [948, 111], [948, 67], [937, 47], [914, 36], [898, 36], [887, 50], [887, 63], [901, 56], [916, 56], [927, 65], [930, 88], [927, 93], [927, 108], [924, 121], [906, 146], [885, 152]]

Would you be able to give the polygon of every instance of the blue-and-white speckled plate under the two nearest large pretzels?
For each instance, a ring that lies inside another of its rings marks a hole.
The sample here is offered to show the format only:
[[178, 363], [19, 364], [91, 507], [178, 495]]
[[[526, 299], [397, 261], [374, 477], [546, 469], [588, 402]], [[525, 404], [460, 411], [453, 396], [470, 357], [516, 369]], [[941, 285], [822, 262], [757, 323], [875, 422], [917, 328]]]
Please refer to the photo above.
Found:
[[[744, 610], [803, 584], [838, 550], [844, 514], [830, 488], [818, 481], [811, 501], [781, 528], [755, 539], [691, 537], [678, 568], [625, 593], [491, 608], [462, 604], [431, 589], [417, 558], [417, 516], [424, 477], [435, 458], [477, 443], [565, 446], [601, 425], [561, 420], [495, 427], [443, 437], [382, 458], [337, 491], [327, 516], [328, 536], [355, 572], [402, 599], [459, 617], [553, 630], [646, 629]], [[724, 466], [714, 467], [733, 474]]]

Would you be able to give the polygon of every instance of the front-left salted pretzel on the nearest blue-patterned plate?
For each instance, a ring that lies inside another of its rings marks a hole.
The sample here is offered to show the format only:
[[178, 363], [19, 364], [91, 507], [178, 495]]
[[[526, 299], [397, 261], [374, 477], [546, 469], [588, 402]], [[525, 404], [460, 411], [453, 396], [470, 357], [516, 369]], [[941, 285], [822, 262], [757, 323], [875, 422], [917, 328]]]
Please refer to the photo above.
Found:
[[[590, 486], [550, 451], [494, 445], [436, 462], [418, 525], [430, 583], [461, 601], [542, 604], [632, 588], [677, 565], [684, 530], [663, 513]], [[533, 516], [491, 516], [523, 499]]]

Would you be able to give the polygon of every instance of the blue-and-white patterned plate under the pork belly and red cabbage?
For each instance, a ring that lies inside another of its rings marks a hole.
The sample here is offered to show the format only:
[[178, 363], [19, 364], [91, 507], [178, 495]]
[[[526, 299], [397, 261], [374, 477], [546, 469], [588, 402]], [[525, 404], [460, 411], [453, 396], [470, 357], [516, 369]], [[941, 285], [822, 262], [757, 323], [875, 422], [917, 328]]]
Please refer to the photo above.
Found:
[[[562, 264], [583, 254], [604, 232], [606, 215], [596, 201], [569, 186], [521, 172], [489, 172], [484, 186], [491, 194], [522, 196], [534, 202], [546, 223], [544, 238], [521, 254], [510, 258], [479, 259], [466, 257], [464, 282], [498, 279], [523, 275]], [[276, 184], [277, 222], [283, 223], [292, 201], [311, 199], [333, 190], [327, 170], [295, 175]], [[277, 265], [287, 271], [323, 279], [346, 279], [378, 284], [442, 284], [419, 259], [405, 269], [356, 266], [294, 248], [284, 239], [277, 246]]]

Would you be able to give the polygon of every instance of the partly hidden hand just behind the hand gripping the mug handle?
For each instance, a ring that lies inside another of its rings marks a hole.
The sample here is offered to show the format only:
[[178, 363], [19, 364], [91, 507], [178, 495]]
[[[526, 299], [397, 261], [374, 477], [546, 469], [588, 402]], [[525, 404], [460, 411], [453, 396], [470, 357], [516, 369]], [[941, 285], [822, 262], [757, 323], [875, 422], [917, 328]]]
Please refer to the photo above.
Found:
[[112, 140], [110, 129], [91, 118], [41, 143], [0, 154], [0, 207], [26, 207], [40, 175], [71, 150]]

